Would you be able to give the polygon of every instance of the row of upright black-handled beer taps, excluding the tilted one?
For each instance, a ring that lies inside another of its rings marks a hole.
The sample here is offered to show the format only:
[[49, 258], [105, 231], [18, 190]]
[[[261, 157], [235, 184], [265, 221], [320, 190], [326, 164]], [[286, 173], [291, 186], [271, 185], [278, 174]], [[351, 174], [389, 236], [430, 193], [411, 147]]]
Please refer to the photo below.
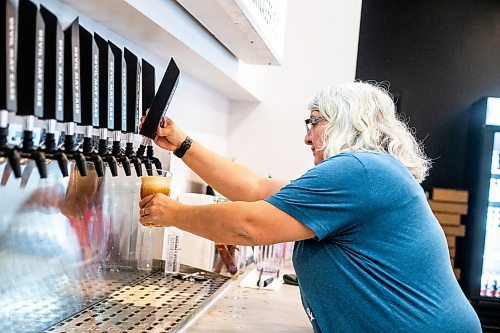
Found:
[[[151, 64], [87, 31], [78, 18], [63, 30], [51, 11], [30, 0], [19, 0], [17, 7], [11, 0], [3, 1], [0, 16], [3, 185], [11, 174], [25, 183], [35, 167], [40, 178], [46, 178], [52, 161], [64, 177], [70, 161], [82, 176], [88, 173], [87, 163], [99, 177], [106, 168], [113, 177], [119, 167], [127, 176], [131, 166], [137, 176], [143, 165], [148, 173], [153, 166], [161, 169], [151, 140], [143, 140], [134, 150], [139, 117], [155, 95]], [[23, 123], [19, 144], [9, 143], [13, 119]], [[35, 123], [43, 124], [36, 125], [43, 126], [38, 142]], [[64, 133], [63, 138], [57, 140], [58, 133]]]

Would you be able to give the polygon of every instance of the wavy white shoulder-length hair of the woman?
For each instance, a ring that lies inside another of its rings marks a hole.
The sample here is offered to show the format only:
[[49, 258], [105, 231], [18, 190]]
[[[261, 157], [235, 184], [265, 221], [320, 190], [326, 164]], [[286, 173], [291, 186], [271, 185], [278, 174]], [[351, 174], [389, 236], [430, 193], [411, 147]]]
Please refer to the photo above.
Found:
[[342, 152], [383, 152], [403, 163], [418, 182], [428, 175], [430, 159], [382, 84], [351, 82], [321, 90], [309, 104], [326, 120], [324, 158]]

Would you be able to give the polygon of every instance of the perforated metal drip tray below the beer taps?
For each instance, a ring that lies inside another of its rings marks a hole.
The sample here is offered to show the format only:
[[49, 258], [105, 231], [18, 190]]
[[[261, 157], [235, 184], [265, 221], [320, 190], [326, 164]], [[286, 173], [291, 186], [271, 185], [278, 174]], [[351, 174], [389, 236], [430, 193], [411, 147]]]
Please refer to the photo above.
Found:
[[203, 276], [190, 281], [155, 272], [44, 332], [176, 332], [229, 281], [209, 272]]

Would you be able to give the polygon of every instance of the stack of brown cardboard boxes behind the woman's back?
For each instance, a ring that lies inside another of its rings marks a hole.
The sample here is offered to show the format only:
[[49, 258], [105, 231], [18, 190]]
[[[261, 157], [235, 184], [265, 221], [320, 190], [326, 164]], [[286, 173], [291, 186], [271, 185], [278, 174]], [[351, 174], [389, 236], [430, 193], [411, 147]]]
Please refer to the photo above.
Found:
[[467, 215], [469, 192], [434, 188], [429, 205], [443, 227], [450, 251], [450, 260], [455, 276], [460, 279], [460, 268], [455, 268], [456, 237], [465, 236], [465, 225], [461, 224], [462, 215]]

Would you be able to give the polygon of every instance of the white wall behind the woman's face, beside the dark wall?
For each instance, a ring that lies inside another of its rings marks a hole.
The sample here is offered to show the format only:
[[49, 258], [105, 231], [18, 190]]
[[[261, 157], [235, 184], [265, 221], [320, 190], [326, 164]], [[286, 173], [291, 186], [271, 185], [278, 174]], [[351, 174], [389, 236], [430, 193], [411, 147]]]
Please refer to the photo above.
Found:
[[241, 65], [262, 103], [231, 105], [228, 157], [276, 178], [313, 166], [307, 104], [322, 87], [354, 80], [360, 16], [361, 0], [289, 0], [283, 66]]

